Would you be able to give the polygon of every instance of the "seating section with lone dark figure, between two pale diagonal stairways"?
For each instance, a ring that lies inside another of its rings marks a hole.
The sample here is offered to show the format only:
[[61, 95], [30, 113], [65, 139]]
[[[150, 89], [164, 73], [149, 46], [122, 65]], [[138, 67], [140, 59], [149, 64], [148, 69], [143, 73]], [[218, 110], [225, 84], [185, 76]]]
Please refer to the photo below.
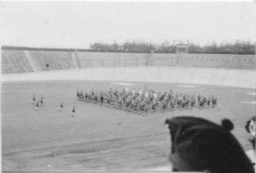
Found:
[[[29, 53], [40, 70], [74, 69], [74, 63], [70, 52], [30, 51]], [[49, 66], [47, 66], [47, 64]]]

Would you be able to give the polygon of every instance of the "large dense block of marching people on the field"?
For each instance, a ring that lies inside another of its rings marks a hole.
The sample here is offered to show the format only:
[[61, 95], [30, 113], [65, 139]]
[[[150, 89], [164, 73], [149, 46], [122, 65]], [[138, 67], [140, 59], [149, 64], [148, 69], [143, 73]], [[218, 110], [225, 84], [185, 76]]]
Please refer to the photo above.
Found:
[[183, 110], [192, 109], [192, 107], [216, 107], [216, 97], [208, 98], [189, 93], [156, 92], [154, 90], [135, 91], [128, 88], [123, 90], [112, 89], [103, 92], [99, 90], [80, 91], [77, 90], [78, 100], [99, 103], [116, 107], [122, 110], [139, 112], [154, 112], [157, 110]]

